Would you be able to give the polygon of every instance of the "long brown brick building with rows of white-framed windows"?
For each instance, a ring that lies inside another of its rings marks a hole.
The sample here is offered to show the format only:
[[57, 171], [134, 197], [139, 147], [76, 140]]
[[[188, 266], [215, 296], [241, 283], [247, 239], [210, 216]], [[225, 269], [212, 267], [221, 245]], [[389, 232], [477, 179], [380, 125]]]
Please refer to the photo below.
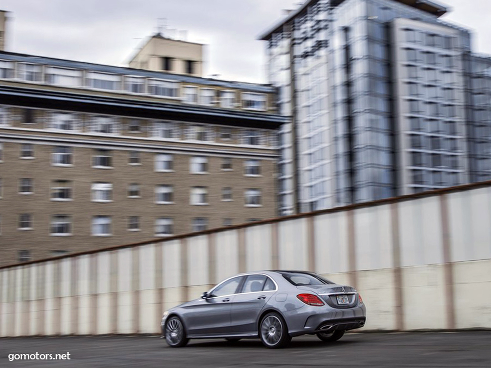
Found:
[[0, 52], [1, 264], [277, 216], [275, 88], [201, 62], [160, 34], [135, 68]]

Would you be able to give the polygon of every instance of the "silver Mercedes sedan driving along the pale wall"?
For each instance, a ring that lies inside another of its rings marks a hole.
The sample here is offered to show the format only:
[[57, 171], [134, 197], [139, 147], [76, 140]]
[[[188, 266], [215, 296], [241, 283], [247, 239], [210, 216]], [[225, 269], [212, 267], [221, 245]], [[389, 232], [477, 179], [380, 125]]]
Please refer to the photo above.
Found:
[[261, 271], [222, 281], [199, 299], [166, 311], [161, 337], [172, 347], [189, 339], [260, 338], [268, 348], [310, 334], [339, 340], [364, 326], [366, 309], [358, 292], [304, 271]]

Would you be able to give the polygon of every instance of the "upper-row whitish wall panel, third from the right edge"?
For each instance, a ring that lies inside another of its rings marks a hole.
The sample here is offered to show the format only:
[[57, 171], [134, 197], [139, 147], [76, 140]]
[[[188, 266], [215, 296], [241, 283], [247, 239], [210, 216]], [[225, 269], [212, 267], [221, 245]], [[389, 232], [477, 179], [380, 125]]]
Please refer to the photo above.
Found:
[[357, 270], [391, 268], [392, 226], [389, 205], [354, 211]]

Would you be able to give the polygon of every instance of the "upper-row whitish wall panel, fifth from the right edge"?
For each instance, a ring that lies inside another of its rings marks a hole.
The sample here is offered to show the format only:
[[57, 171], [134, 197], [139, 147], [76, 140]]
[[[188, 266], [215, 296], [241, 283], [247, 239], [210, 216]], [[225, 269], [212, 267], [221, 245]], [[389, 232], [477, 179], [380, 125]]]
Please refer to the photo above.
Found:
[[307, 269], [307, 220], [300, 218], [278, 225], [279, 268]]

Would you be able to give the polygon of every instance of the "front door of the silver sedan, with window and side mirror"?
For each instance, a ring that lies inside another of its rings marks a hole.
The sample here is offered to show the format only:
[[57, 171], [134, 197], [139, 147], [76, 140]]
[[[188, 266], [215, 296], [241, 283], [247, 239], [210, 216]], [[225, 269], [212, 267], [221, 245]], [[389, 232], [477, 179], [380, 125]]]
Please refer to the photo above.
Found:
[[230, 312], [235, 293], [243, 276], [231, 278], [218, 284], [186, 312], [189, 335], [213, 336], [230, 333]]

